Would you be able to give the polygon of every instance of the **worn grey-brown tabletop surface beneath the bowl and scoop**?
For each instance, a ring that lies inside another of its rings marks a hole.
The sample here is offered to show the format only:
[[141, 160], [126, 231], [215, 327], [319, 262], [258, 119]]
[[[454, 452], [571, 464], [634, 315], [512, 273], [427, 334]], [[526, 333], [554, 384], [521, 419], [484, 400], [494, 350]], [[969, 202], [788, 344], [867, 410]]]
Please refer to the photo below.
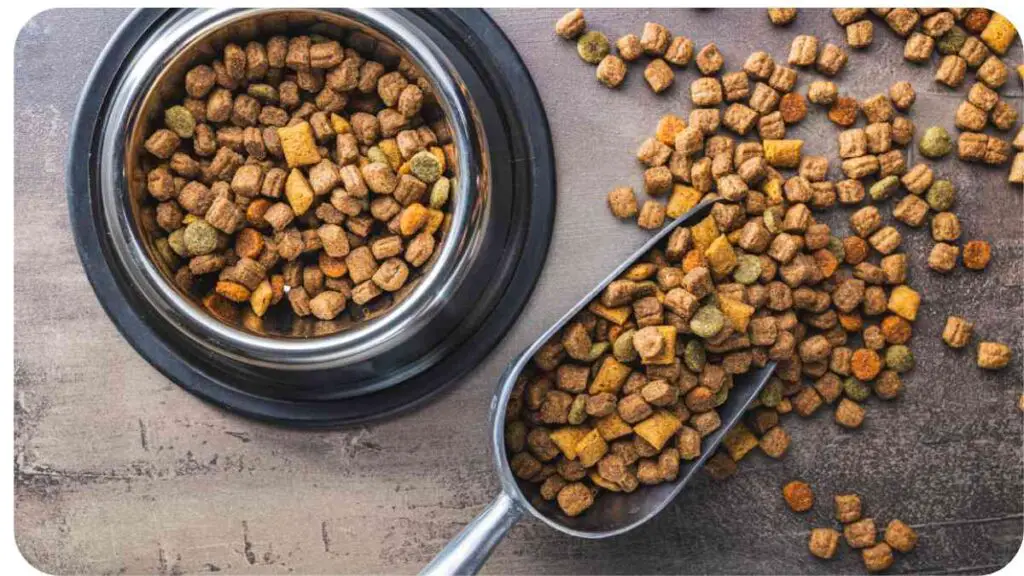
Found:
[[[574, 46], [551, 32], [557, 10], [496, 10], [526, 60], [551, 122], [558, 212], [544, 275], [519, 322], [465, 381], [426, 408], [345, 431], [300, 433], [246, 421], [190, 397], [143, 362], [103, 315], [68, 228], [63, 162], [69, 124], [95, 57], [123, 10], [51, 10], [31, 20], [15, 51], [14, 383], [16, 530], [23, 553], [48, 572], [282, 574], [408, 573], [420, 569], [495, 495], [486, 411], [498, 374], [546, 325], [639, 245], [614, 221], [605, 193], [636, 184], [636, 146], [658, 117], [688, 110], [692, 68], [654, 96], [641, 69], [609, 91]], [[843, 43], [826, 12], [802, 10], [773, 29], [762, 10], [592, 10], [612, 38], [654, 19], [698, 45], [715, 40], [735, 69], [755, 49], [784, 58], [797, 31]], [[952, 131], [963, 91], [934, 84], [877, 30], [840, 83], [859, 97], [909, 79], [919, 126]], [[1020, 43], [1011, 60], [1021, 61]], [[801, 85], [806, 86], [808, 75]], [[1020, 104], [1014, 76], [1004, 90]], [[820, 111], [794, 133], [808, 153], [836, 154]], [[910, 161], [915, 160], [914, 155]], [[926, 231], [905, 234], [912, 284], [924, 293], [913, 347], [919, 367], [899, 401], [868, 403], [864, 427], [831, 414], [786, 420], [790, 454], [749, 456], [724, 485], [701, 478], [670, 509], [629, 535], [572, 540], [526, 521], [486, 567], [501, 573], [814, 573], [861, 570], [849, 550], [831, 563], [806, 551], [808, 530], [829, 524], [833, 494], [863, 494], [866, 513], [900, 518], [921, 534], [894, 572], [990, 572], [1021, 544], [1021, 390], [1024, 220], [1006, 169], [939, 173], [961, 190], [967, 238], [990, 240], [985, 274], [937, 277], [925, 266]], [[839, 176], [834, 168], [834, 177]], [[840, 211], [842, 212], [842, 211]], [[845, 214], [837, 214], [839, 222]], [[581, 254], [592, 254], [580, 257]], [[947, 314], [1014, 346], [1011, 367], [974, 368], [971, 352], [939, 339]], [[780, 486], [809, 481], [820, 503], [786, 511]]]

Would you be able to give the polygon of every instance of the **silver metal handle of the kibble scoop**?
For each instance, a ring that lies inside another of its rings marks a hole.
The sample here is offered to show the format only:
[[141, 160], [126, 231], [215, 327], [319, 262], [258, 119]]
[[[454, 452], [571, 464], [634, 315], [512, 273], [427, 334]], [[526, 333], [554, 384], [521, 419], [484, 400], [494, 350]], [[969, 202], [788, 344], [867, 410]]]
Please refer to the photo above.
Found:
[[480, 516], [462, 529], [420, 576], [476, 574], [505, 534], [522, 518], [522, 507], [502, 492]]

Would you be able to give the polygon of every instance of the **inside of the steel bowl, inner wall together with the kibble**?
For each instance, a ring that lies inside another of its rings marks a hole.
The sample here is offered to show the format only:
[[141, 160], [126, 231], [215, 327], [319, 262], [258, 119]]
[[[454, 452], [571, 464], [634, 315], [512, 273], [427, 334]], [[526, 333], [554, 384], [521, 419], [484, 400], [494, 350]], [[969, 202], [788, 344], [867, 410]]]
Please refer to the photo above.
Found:
[[205, 329], [356, 332], [435, 313], [430, 292], [458, 277], [473, 201], [460, 105], [408, 40], [359, 24], [247, 11], [199, 33], [140, 96], [125, 151], [134, 240]]

